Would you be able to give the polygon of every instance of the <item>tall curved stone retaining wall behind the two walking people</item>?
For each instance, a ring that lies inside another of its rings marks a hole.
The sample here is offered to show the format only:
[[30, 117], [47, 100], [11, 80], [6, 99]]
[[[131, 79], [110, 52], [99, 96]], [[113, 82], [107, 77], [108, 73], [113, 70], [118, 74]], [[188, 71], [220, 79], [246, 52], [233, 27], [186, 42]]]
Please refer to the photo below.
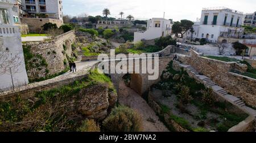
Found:
[[[71, 45], [73, 42], [75, 42], [75, 34], [73, 31], [69, 31], [51, 41], [27, 42], [23, 44], [23, 46], [30, 47], [31, 54], [35, 55], [35, 57], [42, 57], [47, 63], [46, 68], [36, 66], [27, 69], [29, 79], [40, 79], [46, 75], [54, 75], [63, 71], [68, 64], [67, 58], [72, 55]], [[65, 45], [65, 48], [63, 45]], [[32, 60], [36, 62], [36, 59]], [[65, 65], [64, 60], [66, 62]]]

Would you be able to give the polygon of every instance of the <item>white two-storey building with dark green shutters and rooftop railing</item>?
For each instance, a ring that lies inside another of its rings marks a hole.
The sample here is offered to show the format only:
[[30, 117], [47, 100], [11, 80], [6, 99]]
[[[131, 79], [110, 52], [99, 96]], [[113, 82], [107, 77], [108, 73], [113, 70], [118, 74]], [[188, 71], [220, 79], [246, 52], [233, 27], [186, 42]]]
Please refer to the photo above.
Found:
[[242, 12], [225, 7], [203, 8], [201, 20], [193, 25], [195, 32], [187, 31], [187, 38], [205, 38], [217, 42], [218, 37], [241, 38]]

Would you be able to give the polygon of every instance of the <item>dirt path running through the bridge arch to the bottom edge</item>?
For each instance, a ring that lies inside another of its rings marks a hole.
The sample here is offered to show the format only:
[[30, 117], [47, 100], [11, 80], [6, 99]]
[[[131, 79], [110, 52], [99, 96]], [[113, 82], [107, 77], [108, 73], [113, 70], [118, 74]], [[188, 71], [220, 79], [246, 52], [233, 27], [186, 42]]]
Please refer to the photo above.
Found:
[[[120, 82], [118, 102], [135, 109], [143, 118], [144, 132], [168, 132], [166, 126], [160, 122], [155, 111], [147, 104], [147, 102], [139, 96], [133, 89], [128, 88], [125, 82]], [[151, 120], [148, 121], [148, 119]], [[152, 122], [153, 121], [153, 122]]]

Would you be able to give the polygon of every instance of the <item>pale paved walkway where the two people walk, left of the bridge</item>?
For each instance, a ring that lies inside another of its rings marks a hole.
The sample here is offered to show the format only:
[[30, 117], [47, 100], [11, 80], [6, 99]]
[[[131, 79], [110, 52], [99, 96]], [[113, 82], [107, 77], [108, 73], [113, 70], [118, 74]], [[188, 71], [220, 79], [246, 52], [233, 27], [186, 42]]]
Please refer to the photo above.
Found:
[[[39, 86], [45, 86], [48, 84], [53, 84], [53, 83], [57, 83], [59, 81], [65, 80], [65, 79], [72, 79], [74, 77], [79, 77], [82, 75], [85, 75], [86, 73], [88, 73], [88, 71], [90, 70], [90, 68], [97, 63], [97, 60], [90, 60], [90, 61], [85, 61], [85, 62], [76, 62], [76, 66], [77, 66], [77, 72], [67, 72], [64, 73], [63, 75], [54, 77], [52, 79], [48, 79], [48, 80], [44, 80], [44, 81], [39, 81], [36, 83], [31, 83], [28, 85], [24, 85], [24, 86], [20, 86], [19, 88], [15, 88], [15, 92], [20, 92], [22, 90], [27, 90], [27, 89], [32, 89], [32, 88], [37, 88]], [[13, 93], [12, 90], [7, 90], [3, 93], [0, 93], [0, 96], [5, 96], [6, 94], [10, 94]]]

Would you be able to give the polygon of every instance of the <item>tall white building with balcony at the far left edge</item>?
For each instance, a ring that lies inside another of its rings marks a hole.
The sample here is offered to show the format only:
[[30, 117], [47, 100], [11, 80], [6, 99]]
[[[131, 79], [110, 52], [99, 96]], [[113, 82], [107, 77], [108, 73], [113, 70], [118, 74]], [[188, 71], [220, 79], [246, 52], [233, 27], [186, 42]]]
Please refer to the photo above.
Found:
[[0, 0], [0, 90], [28, 84], [19, 27], [14, 25], [14, 3]]

